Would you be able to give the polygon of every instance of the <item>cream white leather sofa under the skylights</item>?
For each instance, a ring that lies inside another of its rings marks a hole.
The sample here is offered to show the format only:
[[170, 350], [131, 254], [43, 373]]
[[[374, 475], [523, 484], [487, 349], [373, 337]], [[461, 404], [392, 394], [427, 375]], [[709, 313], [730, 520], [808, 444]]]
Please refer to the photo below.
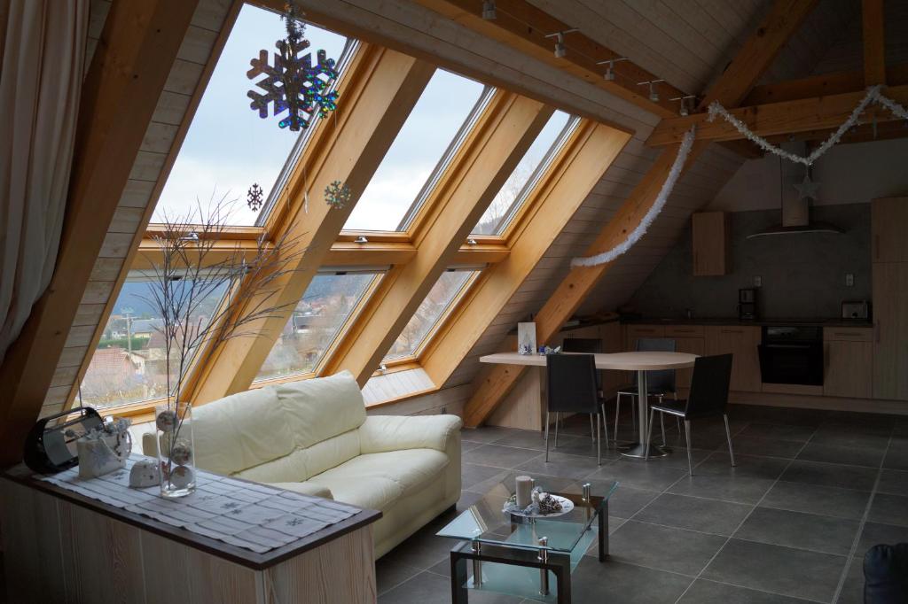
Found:
[[[346, 371], [192, 410], [196, 465], [380, 510], [376, 558], [458, 501], [460, 425], [456, 415], [367, 417]], [[154, 438], [143, 447], [155, 454]]]

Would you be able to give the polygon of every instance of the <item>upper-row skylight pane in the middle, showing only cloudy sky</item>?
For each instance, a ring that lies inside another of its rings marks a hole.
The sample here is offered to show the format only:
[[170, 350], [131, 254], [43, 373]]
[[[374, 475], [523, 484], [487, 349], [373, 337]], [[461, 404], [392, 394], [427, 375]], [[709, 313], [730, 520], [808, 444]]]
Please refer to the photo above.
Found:
[[493, 92], [436, 70], [344, 229], [406, 230]]

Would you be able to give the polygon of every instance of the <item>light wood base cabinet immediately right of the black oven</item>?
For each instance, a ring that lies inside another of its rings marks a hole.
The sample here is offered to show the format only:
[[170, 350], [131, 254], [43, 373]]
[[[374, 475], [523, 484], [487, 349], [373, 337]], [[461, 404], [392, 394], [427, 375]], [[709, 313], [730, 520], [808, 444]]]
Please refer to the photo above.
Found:
[[824, 395], [873, 396], [873, 329], [825, 327], [823, 367]]

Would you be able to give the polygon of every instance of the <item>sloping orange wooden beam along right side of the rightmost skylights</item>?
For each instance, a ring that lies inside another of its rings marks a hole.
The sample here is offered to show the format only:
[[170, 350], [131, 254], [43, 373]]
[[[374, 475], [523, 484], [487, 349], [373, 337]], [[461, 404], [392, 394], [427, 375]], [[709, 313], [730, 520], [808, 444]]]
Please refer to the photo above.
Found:
[[482, 272], [420, 356], [434, 384], [444, 385], [469, 355], [629, 140], [597, 122], [577, 126], [510, 229], [508, 258]]

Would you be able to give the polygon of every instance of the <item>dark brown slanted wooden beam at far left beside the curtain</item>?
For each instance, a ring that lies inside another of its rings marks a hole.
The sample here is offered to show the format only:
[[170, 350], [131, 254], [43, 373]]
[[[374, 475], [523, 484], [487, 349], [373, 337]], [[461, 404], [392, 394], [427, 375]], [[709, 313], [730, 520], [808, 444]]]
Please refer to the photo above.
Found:
[[79, 103], [54, 277], [0, 367], [0, 465], [21, 458], [196, 4], [114, 0], [107, 15]]

